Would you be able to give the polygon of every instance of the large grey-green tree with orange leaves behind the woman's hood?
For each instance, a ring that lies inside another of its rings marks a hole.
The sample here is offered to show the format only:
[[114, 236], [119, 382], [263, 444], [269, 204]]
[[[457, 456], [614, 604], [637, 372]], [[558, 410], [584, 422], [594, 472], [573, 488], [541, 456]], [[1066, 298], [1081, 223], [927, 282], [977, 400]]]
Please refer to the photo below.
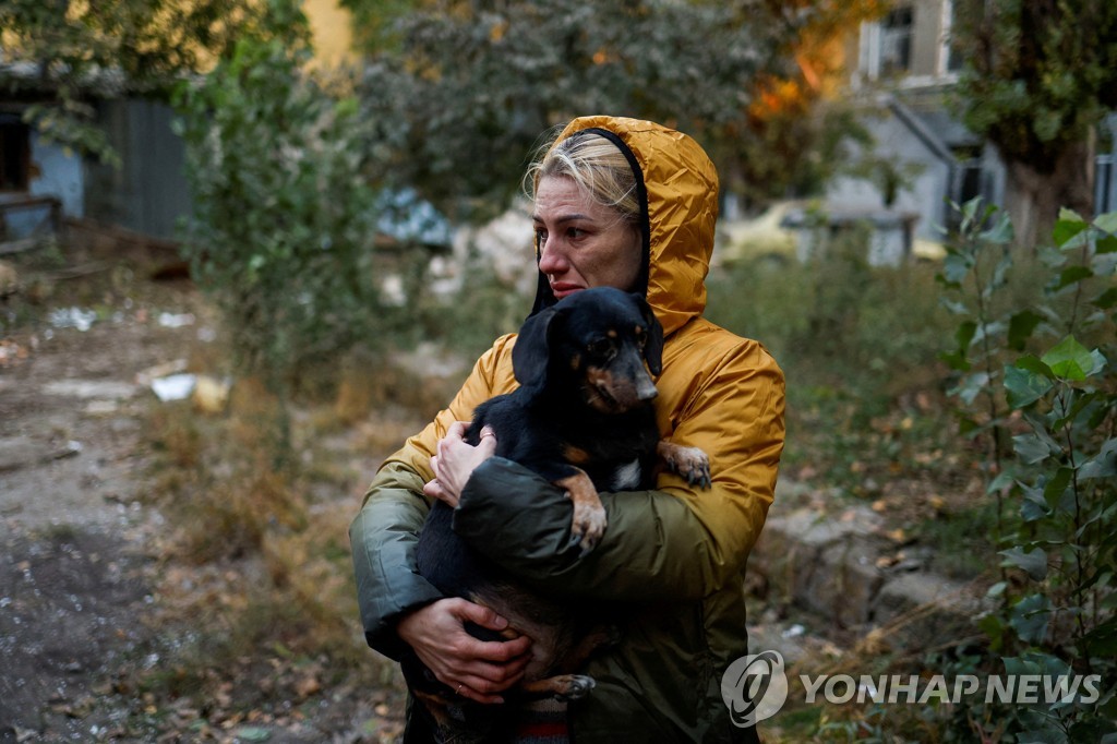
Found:
[[[812, 162], [820, 140], [801, 126], [803, 136], [785, 146], [776, 131], [819, 96], [796, 87], [800, 99], [783, 117], [764, 106], [790, 104], [781, 86], [815, 73], [792, 54], [805, 35], [836, 18], [853, 22], [851, 6], [875, 6], [414, 0], [404, 13], [398, 2], [380, 12], [372, 0], [347, 4], [374, 25], [357, 34], [376, 45], [365, 50], [364, 98], [378, 141], [394, 153], [393, 172], [457, 217], [504, 204], [540, 134], [585, 113], [676, 125], [703, 143], [728, 184], [792, 188], [796, 178], [786, 174]], [[772, 142], [780, 155], [764, 158]], [[475, 201], [464, 206], [462, 197]]]

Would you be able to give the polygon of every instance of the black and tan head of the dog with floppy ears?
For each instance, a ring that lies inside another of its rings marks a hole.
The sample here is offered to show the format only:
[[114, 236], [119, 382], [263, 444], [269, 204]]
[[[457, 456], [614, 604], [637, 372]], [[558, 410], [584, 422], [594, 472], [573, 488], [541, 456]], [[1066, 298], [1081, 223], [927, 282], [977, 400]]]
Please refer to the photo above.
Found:
[[659, 374], [662, 352], [663, 330], [643, 297], [598, 287], [527, 318], [512, 363], [532, 398], [574, 385], [596, 410], [622, 413], [656, 397], [648, 372]]

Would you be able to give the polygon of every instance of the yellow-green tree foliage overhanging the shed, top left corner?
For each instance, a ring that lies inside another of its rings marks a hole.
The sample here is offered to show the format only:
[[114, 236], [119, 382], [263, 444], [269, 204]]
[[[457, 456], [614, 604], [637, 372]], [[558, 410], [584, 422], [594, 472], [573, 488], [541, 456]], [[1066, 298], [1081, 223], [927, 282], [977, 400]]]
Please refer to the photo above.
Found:
[[4, 0], [0, 87], [35, 99], [25, 120], [46, 139], [115, 163], [97, 98], [166, 98], [181, 76], [212, 68], [258, 21], [251, 0]]

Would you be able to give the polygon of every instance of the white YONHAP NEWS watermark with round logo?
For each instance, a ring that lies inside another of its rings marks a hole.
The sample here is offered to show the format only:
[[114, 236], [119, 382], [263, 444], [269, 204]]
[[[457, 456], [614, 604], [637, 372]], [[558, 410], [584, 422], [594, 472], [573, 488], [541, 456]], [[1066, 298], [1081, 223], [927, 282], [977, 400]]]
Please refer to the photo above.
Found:
[[[926, 705], [1002, 703], [1090, 705], [1101, 697], [1101, 675], [798, 675], [802, 703], [831, 705]], [[722, 676], [722, 698], [737, 726], [771, 718], [791, 696], [783, 655], [762, 651], [741, 657]]]

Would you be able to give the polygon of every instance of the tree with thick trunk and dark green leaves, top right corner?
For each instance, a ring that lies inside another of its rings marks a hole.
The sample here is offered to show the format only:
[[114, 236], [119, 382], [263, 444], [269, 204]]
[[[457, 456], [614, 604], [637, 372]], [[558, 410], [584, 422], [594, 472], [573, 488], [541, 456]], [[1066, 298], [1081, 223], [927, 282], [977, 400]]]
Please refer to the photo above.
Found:
[[1094, 213], [1096, 127], [1117, 108], [1113, 0], [955, 0], [964, 67], [955, 105], [996, 145], [1020, 245], [1051, 235], [1059, 207]]

